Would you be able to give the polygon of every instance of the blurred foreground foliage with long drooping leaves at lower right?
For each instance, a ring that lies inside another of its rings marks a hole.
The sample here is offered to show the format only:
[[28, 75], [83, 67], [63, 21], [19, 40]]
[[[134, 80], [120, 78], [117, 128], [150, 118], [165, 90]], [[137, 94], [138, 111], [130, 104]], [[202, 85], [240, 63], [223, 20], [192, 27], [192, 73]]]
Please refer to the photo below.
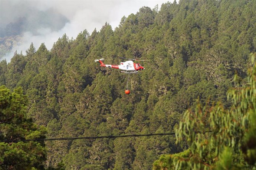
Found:
[[154, 169], [255, 169], [256, 67], [247, 80], [245, 87], [229, 91], [230, 109], [218, 103], [187, 110], [176, 136], [178, 143], [186, 140], [189, 149], [161, 156]]

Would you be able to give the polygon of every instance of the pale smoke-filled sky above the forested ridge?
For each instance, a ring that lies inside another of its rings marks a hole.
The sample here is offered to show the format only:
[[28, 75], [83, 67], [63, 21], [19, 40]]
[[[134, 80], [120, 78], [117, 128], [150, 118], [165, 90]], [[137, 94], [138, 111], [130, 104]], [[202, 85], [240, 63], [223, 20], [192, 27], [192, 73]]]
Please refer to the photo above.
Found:
[[[136, 14], [142, 6], [148, 6], [151, 9], [158, 4], [160, 9], [161, 4], [168, 0], [0, 0], [0, 27], [5, 27], [10, 22], [14, 22], [19, 17], [31, 18], [39, 23], [45, 18], [43, 17], [48, 11], [55, 11], [56, 14], [66, 17], [66, 23], [61, 25], [58, 30], [53, 30], [52, 27], [42, 26], [35, 27], [33, 33], [27, 31], [23, 33], [22, 42], [13, 47], [11, 53], [7, 54], [6, 58], [12, 57], [13, 52], [18, 53], [25, 51], [33, 42], [36, 50], [41, 43], [45, 43], [48, 50], [52, 48], [54, 42], [62, 37], [64, 33], [71, 38], [76, 38], [78, 33], [87, 30], [89, 34], [96, 28], [99, 31], [107, 22], [114, 30], [118, 27], [123, 16], [128, 17], [129, 14]], [[174, 0], [169, 0], [171, 3]], [[39, 16], [36, 14], [43, 13]], [[35, 18], [35, 16], [37, 18]], [[52, 16], [53, 20], [55, 16]], [[61, 23], [56, 17], [56, 22]], [[31, 27], [33, 28], [33, 27]], [[36, 33], [36, 34], [35, 34]]]

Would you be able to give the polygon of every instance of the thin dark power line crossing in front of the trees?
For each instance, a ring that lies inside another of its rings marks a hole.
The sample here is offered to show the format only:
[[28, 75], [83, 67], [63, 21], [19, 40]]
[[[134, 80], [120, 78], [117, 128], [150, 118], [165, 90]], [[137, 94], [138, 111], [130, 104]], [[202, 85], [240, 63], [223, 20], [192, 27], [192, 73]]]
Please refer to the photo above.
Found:
[[[211, 132], [205, 131], [204, 133]], [[202, 133], [202, 132], [195, 132], [195, 133]], [[175, 132], [170, 133], [150, 133], [150, 134], [134, 134], [134, 135], [119, 135], [119, 136], [85, 136], [85, 137], [61, 137], [61, 138], [50, 138], [50, 139], [16, 139], [16, 140], [1, 140], [1, 142], [30, 142], [30, 141], [50, 141], [50, 140], [76, 140], [76, 139], [102, 139], [102, 138], [109, 138], [115, 139], [120, 137], [142, 137], [142, 136], [164, 136], [164, 135], [175, 135]]]

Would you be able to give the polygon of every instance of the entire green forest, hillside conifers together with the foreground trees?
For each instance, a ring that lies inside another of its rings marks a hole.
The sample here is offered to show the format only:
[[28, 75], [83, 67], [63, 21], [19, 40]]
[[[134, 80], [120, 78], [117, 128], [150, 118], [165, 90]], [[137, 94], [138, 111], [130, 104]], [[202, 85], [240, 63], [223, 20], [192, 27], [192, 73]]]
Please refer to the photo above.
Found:
[[[94, 62], [112, 56], [148, 61], [128, 79]], [[0, 61], [0, 170], [256, 169], [255, 57], [255, 0], [143, 6], [32, 43]], [[154, 133], [173, 135], [36, 140]]]

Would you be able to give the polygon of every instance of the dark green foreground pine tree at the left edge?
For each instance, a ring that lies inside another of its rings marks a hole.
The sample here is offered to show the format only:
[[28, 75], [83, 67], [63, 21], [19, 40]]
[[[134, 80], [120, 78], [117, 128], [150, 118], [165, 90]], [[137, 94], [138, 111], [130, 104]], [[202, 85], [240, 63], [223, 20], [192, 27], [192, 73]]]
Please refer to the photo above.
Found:
[[44, 142], [15, 142], [42, 139], [46, 135], [45, 128], [26, 117], [27, 102], [20, 88], [11, 92], [0, 86], [0, 169], [43, 169]]

